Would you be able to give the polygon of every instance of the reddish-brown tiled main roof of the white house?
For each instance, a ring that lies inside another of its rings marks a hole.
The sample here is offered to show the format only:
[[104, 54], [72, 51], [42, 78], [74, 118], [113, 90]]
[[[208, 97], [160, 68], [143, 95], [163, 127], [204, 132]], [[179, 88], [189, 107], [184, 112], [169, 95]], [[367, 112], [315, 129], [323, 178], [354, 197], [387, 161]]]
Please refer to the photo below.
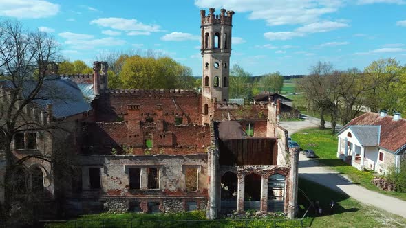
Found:
[[[353, 126], [381, 126], [379, 146], [387, 150], [398, 152], [406, 146], [406, 119], [394, 120], [392, 116], [381, 117], [378, 113], [365, 113], [352, 119], [341, 128], [343, 130]], [[367, 128], [368, 129], [368, 128]], [[369, 130], [369, 129], [368, 129]]]

